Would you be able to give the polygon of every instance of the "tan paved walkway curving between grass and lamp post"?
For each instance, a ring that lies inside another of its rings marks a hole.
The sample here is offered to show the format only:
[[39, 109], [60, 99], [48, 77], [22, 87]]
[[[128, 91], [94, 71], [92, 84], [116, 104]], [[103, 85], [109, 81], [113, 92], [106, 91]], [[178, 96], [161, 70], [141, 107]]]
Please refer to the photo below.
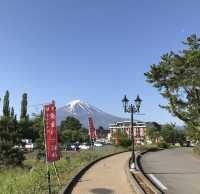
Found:
[[125, 173], [130, 153], [103, 159], [92, 166], [77, 183], [72, 194], [133, 194]]

